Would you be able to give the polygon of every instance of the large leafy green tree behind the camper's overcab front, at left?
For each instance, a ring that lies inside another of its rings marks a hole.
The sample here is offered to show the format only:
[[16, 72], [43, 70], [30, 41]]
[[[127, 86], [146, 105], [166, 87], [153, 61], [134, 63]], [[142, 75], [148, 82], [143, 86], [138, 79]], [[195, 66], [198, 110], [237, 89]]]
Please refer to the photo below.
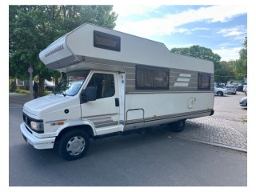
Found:
[[42, 64], [40, 51], [85, 22], [113, 29], [118, 15], [112, 9], [113, 6], [10, 6], [10, 77], [29, 78], [27, 69], [32, 65], [42, 93], [44, 79], [58, 78], [60, 73]]

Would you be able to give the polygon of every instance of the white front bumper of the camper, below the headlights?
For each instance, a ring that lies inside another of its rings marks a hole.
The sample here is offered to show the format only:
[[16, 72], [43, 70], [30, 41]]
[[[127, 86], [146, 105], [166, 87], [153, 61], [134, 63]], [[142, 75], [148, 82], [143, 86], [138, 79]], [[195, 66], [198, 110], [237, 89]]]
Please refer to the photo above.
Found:
[[22, 130], [23, 138], [26, 142], [29, 142], [35, 149], [43, 150], [43, 149], [52, 149], [54, 148], [55, 137], [53, 138], [37, 138], [33, 134], [27, 130], [26, 125], [22, 122], [20, 126]]

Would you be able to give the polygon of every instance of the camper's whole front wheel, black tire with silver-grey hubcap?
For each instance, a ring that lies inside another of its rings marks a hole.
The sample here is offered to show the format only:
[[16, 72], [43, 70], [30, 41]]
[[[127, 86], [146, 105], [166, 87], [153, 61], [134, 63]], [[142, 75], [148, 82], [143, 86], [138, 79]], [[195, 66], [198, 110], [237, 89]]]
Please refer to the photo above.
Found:
[[71, 130], [62, 135], [58, 142], [58, 154], [67, 161], [82, 158], [88, 151], [90, 138], [83, 130]]

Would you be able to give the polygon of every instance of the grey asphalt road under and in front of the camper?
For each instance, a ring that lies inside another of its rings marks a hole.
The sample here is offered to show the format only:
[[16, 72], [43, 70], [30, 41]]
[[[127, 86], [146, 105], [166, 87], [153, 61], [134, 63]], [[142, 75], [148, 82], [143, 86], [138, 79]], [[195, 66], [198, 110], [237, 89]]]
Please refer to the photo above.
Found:
[[9, 186], [247, 186], [246, 153], [162, 130], [92, 141], [84, 158], [66, 162], [27, 144], [22, 105], [9, 108]]

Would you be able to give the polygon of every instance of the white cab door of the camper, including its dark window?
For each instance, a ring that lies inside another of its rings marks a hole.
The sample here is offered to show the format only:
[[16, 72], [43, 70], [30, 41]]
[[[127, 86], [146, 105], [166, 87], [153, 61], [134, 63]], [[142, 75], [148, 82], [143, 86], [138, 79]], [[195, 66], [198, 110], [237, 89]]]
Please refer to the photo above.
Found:
[[94, 71], [86, 85], [90, 86], [96, 88], [96, 100], [81, 103], [82, 120], [93, 123], [97, 135], [117, 132], [120, 114], [118, 74]]

